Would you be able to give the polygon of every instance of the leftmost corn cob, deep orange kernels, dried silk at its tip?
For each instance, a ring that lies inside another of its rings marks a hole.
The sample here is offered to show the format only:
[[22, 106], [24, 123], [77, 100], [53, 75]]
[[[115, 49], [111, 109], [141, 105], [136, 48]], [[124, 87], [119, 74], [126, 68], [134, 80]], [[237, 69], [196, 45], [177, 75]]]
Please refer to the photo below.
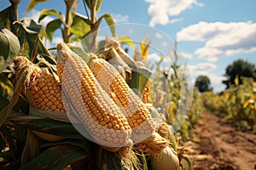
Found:
[[[61, 98], [61, 84], [55, 73], [47, 68], [32, 64], [26, 57], [15, 59], [16, 78], [27, 74], [26, 88], [30, 89], [32, 99], [38, 109], [65, 112]], [[34, 105], [35, 106], [35, 105]]]

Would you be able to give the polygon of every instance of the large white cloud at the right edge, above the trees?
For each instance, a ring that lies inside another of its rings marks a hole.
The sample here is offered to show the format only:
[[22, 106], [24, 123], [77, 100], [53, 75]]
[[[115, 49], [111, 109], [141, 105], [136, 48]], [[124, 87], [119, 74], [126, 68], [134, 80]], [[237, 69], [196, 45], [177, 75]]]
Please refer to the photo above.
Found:
[[201, 21], [177, 32], [177, 41], [205, 42], [204, 47], [195, 50], [195, 54], [199, 58], [216, 61], [221, 55], [256, 51], [256, 23]]

